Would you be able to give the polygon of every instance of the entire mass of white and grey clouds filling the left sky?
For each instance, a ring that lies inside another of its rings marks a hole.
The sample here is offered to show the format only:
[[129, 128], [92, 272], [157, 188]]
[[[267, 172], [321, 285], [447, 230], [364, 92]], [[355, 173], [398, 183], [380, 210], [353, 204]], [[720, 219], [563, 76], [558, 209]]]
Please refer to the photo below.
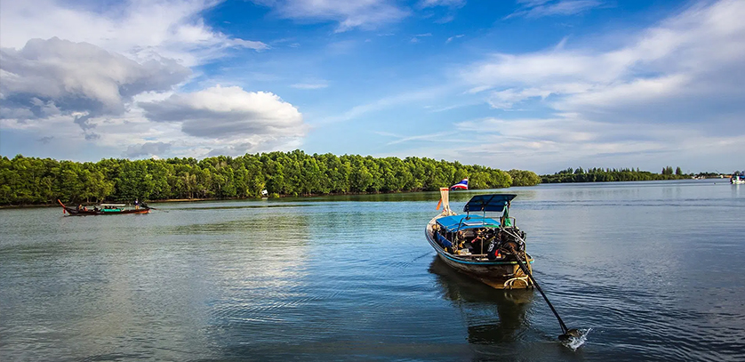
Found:
[[[205, 25], [201, 12], [214, 4], [3, 2], [0, 126], [33, 134], [39, 142], [119, 149], [127, 157], [297, 147], [307, 127], [300, 112], [274, 94], [237, 87], [179, 93], [192, 76], [188, 67], [228, 49], [269, 48]], [[178, 122], [146, 117], [172, 115], [167, 108], [176, 104], [184, 115]]]

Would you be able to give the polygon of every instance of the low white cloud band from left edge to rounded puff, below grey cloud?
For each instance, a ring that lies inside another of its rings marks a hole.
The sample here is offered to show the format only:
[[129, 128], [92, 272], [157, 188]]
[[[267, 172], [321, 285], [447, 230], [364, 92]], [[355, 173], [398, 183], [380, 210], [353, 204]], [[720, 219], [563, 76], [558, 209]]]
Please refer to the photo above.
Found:
[[[97, 146], [124, 157], [239, 156], [246, 152], [301, 147], [308, 126], [300, 113], [271, 93], [248, 93], [238, 87], [213, 87], [196, 93], [144, 94], [121, 116], [98, 117], [95, 138], [81, 133], [74, 115], [19, 123], [0, 119], [4, 131], [53, 136], [52, 142]], [[148, 113], [138, 107], [151, 106]], [[177, 119], [179, 114], [182, 119]], [[163, 116], [156, 120], [156, 115]], [[154, 117], [154, 120], [148, 117]], [[118, 149], [118, 150], [117, 150]], [[115, 154], [116, 155], [116, 154]]]

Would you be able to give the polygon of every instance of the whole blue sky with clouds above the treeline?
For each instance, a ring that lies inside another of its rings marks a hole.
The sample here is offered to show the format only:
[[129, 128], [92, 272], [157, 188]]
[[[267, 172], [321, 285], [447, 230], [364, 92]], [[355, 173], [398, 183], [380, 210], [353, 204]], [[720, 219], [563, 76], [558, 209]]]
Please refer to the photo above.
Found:
[[741, 19], [728, 0], [4, 1], [0, 155], [731, 172]]

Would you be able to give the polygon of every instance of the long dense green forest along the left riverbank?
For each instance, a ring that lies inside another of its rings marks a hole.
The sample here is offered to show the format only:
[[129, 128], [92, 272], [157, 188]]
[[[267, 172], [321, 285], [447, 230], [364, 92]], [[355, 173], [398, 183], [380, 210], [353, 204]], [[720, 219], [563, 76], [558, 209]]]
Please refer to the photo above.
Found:
[[103, 200], [272, 196], [435, 190], [469, 178], [470, 189], [536, 184], [531, 172], [509, 173], [431, 158], [373, 158], [300, 150], [241, 157], [102, 159], [97, 163], [16, 156], [0, 158], [0, 205]]

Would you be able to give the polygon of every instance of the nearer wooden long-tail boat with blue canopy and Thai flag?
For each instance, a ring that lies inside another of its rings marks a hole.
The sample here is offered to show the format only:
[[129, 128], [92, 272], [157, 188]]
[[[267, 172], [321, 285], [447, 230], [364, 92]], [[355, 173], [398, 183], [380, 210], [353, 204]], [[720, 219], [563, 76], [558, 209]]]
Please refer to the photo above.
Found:
[[[527, 261], [530, 270], [533, 258], [525, 253], [525, 232], [509, 217], [510, 201], [517, 195], [477, 195], [463, 207], [466, 214], [459, 215], [450, 210], [448, 193], [447, 188], [440, 189], [443, 212], [429, 221], [424, 232], [437, 256], [453, 269], [497, 289], [532, 287], [516, 256]], [[486, 217], [487, 212], [503, 214], [497, 220]]]

